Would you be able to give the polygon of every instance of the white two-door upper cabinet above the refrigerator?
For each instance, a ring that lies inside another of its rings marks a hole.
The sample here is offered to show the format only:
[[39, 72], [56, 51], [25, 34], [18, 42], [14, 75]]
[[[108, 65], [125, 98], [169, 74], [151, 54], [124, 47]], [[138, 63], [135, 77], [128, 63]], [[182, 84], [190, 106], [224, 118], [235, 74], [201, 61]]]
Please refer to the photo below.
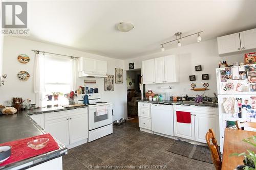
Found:
[[219, 55], [236, 54], [256, 48], [256, 29], [217, 38]]

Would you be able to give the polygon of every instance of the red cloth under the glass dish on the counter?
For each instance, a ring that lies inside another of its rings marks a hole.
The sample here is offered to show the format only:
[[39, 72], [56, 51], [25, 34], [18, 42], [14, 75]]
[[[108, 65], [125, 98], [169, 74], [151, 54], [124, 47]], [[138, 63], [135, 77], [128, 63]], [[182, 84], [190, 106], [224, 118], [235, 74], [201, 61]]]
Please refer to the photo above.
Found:
[[[29, 148], [27, 143], [38, 138], [48, 138], [49, 141], [42, 149], [34, 150]], [[0, 167], [59, 149], [58, 144], [49, 133], [0, 144], [0, 146], [6, 145], [11, 147], [11, 156], [6, 161], [0, 163]]]

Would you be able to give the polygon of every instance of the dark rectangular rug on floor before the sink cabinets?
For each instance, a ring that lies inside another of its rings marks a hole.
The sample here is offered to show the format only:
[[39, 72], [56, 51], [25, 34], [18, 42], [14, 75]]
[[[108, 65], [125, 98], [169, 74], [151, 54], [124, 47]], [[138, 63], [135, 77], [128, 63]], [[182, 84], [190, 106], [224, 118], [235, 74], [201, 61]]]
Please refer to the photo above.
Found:
[[175, 142], [170, 146], [170, 148], [167, 151], [188, 158], [212, 163], [208, 147], [204, 147], [201, 145], [190, 144], [188, 142], [181, 140], [175, 140]]

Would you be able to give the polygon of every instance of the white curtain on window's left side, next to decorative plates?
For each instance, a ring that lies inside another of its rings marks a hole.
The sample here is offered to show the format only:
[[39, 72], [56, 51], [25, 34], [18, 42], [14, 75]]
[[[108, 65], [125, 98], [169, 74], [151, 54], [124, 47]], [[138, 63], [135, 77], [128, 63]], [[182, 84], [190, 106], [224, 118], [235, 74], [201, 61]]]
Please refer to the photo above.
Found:
[[34, 63], [34, 92], [36, 107], [42, 107], [45, 92], [45, 54], [35, 52]]

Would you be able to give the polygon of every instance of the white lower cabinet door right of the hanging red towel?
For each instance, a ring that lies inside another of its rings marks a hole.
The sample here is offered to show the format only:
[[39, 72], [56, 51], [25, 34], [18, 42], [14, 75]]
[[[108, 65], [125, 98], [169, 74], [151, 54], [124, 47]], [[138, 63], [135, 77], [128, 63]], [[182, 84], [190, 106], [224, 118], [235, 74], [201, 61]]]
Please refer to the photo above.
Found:
[[213, 129], [219, 138], [219, 116], [210, 114], [194, 113], [195, 118], [195, 140], [206, 143], [205, 134]]

